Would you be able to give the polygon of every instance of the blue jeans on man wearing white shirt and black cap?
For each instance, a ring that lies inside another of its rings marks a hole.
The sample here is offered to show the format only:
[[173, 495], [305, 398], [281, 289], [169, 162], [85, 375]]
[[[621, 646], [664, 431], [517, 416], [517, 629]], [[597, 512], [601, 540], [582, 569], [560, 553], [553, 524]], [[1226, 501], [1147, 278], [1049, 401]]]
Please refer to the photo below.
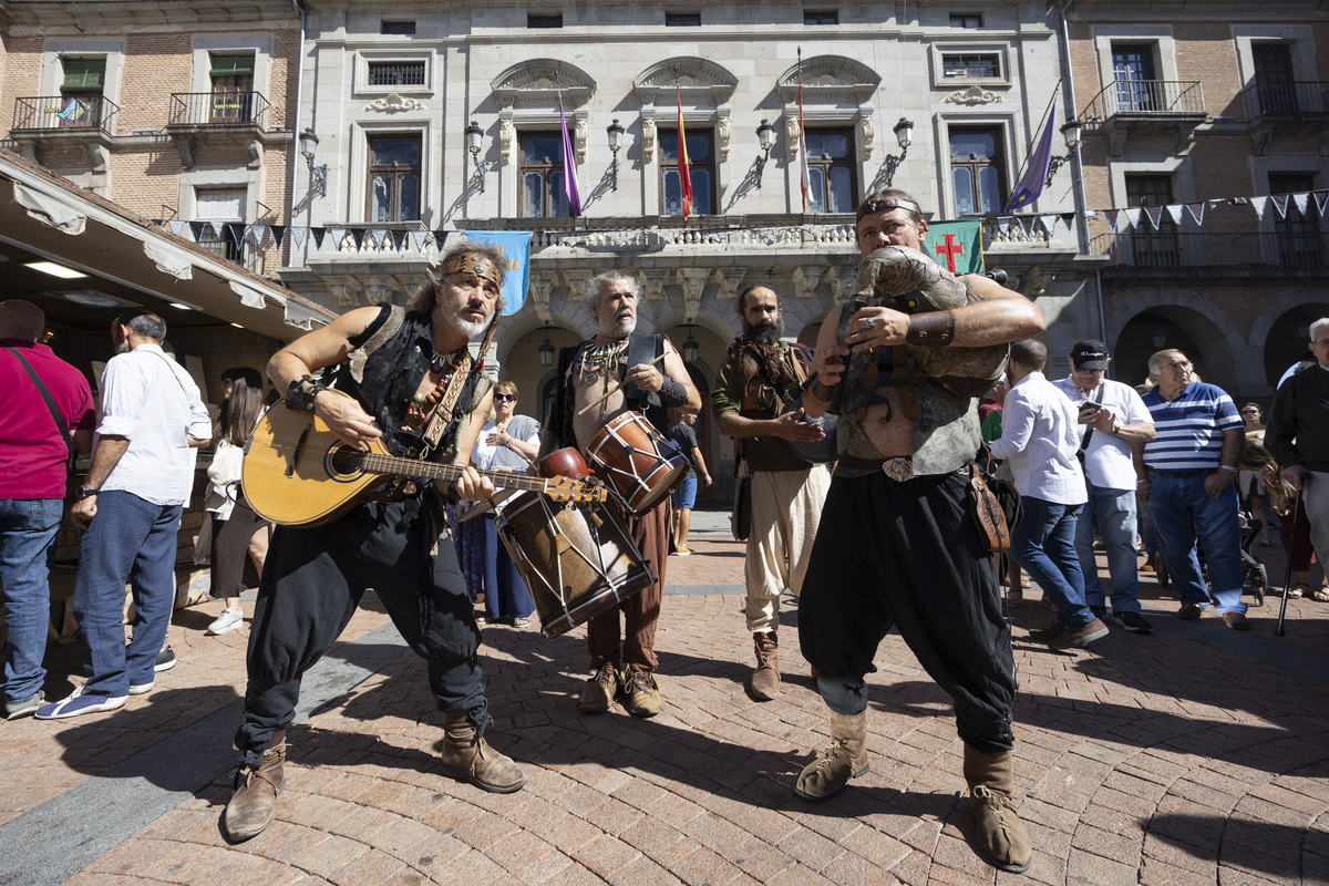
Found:
[[1084, 603], [1103, 606], [1103, 583], [1094, 562], [1094, 519], [1107, 551], [1107, 574], [1112, 576], [1112, 611], [1140, 611], [1140, 576], [1135, 553], [1135, 490], [1104, 489], [1091, 482], [1088, 503], [1075, 521], [1075, 549], [1084, 574]]

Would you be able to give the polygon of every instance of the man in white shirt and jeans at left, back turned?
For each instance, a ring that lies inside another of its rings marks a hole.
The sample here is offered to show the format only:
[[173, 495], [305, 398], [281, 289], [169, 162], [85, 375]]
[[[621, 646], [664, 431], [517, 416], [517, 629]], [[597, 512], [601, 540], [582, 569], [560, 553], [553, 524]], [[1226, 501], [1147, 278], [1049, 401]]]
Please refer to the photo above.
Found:
[[[61, 720], [125, 707], [153, 688], [175, 604], [175, 533], [194, 487], [195, 449], [213, 436], [189, 373], [166, 356], [166, 324], [128, 311], [110, 325], [116, 356], [101, 377], [92, 468], [70, 510], [78, 545], [73, 610], [92, 676], [37, 709]], [[133, 640], [125, 644], [125, 582], [133, 580]]]

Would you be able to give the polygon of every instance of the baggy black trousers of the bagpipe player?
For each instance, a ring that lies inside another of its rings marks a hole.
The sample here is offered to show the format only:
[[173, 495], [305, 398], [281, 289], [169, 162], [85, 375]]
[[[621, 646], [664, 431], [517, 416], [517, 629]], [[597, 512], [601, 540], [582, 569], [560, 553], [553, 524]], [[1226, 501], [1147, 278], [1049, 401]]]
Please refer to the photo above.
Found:
[[956, 705], [960, 737], [1010, 751], [1015, 699], [997, 567], [969, 511], [968, 474], [835, 477], [799, 602], [803, 655], [861, 680], [892, 627]]

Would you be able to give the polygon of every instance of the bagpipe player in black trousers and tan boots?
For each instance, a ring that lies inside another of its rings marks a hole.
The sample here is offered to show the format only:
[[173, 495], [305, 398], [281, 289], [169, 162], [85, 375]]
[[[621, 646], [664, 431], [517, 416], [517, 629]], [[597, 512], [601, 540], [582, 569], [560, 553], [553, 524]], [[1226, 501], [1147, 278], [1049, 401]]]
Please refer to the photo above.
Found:
[[1033, 853], [1010, 800], [1010, 628], [969, 477], [982, 441], [975, 399], [1005, 368], [1006, 343], [1037, 335], [1043, 319], [1019, 294], [960, 280], [918, 252], [926, 231], [904, 191], [859, 207], [855, 300], [827, 315], [803, 397], [809, 416], [839, 412], [840, 458], [799, 603], [831, 744], [796, 790], [824, 800], [867, 772], [864, 675], [896, 627], [954, 700], [979, 849], [1022, 871]]

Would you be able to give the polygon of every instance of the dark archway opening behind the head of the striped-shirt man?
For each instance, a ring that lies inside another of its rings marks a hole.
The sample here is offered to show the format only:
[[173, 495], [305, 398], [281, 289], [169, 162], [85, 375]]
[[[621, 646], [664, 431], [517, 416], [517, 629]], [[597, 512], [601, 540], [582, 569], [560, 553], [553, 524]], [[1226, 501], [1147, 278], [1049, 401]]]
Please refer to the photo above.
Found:
[[[1152, 339], [1159, 331], [1162, 344]], [[1107, 319], [1107, 341], [1115, 376], [1127, 384], [1146, 377], [1144, 360], [1155, 351], [1192, 348], [1195, 353], [1187, 351], [1187, 356], [1205, 381], [1233, 397], [1239, 391], [1249, 393], [1249, 381], [1239, 373], [1251, 365], [1249, 345], [1221, 308], [1195, 292], [1160, 288], [1128, 300]]]

